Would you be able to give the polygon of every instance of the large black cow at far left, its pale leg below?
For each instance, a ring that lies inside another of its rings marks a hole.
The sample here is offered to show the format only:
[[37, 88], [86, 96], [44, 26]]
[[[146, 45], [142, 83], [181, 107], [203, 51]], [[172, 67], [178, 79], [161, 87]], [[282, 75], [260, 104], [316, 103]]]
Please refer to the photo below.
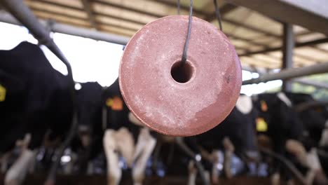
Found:
[[20, 184], [45, 133], [64, 137], [71, 125], [73, 100], [69, 79], [53, 69], [39, 46], [22, 42], [0, 51], [0, 153], [27, 138], [27, 149], [6, 173], [5, 184]]

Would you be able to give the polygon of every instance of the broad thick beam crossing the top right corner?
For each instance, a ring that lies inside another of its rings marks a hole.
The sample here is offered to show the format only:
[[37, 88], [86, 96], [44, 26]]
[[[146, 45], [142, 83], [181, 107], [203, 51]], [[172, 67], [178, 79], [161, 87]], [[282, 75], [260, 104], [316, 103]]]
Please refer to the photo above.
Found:
[[245, 6], [270, 18], [294, 25], [301, 25], [315, 32], [328, 35], [327, 0], [227, 0]]

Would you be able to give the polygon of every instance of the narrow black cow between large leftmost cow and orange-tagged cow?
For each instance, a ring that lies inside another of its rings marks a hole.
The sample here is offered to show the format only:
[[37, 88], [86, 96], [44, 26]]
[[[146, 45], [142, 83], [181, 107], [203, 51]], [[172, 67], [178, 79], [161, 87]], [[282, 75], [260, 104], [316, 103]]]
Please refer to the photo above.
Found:
[[102, 86], [97, 82], [79, 83], [76, 91], [78, 132], [71, 149], [77, 153], [74, 165], [78, 173], [86, 172], [88, 162], [102, 153]]

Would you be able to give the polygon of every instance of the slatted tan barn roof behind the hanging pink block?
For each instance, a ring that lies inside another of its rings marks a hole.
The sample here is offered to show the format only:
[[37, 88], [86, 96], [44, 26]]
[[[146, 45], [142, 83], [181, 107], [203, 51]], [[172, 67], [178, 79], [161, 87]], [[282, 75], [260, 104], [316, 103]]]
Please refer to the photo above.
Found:
[[[148, 22], [177, 14], [177, 0], [24, 0], [41, 19], [132, 36]], [[282, 66], [282, 23], [250, 9], [219, 1], [224, 33], [243, 66], [278, 69]], [[212, 0], [194, 0], [193, 15], [218, 27]], [[188, 15], [189, 0], [181, 1]], [[294, 67], [328, 62], [328, 37], [294, 25]]]

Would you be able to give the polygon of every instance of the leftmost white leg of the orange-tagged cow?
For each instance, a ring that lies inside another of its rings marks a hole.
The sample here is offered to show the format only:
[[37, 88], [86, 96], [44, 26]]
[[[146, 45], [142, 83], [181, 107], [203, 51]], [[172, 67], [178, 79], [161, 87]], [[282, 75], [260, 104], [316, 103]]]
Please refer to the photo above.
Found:
[[116, 152], [116, 139], [114, 130], [106, 130], [104, 134], [104, 152], [107, 158], [107, 184], [118, 185], [122, 172]]

